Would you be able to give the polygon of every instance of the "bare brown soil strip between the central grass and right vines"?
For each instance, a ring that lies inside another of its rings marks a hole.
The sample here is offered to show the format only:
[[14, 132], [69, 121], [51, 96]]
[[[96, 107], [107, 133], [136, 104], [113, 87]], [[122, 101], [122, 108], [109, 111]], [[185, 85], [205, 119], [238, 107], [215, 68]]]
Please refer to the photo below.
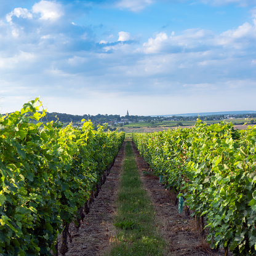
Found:
[[[170, 190], [166, 190], [159, 184], [159, 178], [153, 175], [148, 164], [140, 157], [134, 143], [132, 143], [132, 148], [145, 189], [154, 204], [160, 230], [164, 238], [169, 241], [169, 256], [224, 255], [223, 250], [219, 252], [210, 250], [209, 244], [196, 230], [194, 218], [187, 217], [184, 211], [183, 214], [178, 214], [178, 206], [174, 206]], [[143, 174], [143, 171], [148, 175]]]

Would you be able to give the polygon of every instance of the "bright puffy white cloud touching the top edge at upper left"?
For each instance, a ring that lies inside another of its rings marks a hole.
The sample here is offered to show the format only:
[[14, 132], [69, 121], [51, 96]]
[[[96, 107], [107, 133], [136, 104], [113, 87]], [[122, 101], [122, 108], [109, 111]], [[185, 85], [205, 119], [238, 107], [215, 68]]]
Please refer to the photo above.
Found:
[[45, 0], [34, 4], [32, 10], [34, 14], [41, 14], [41, 20], [54, 21], [63, 15], [62, 6], [60, 4]]

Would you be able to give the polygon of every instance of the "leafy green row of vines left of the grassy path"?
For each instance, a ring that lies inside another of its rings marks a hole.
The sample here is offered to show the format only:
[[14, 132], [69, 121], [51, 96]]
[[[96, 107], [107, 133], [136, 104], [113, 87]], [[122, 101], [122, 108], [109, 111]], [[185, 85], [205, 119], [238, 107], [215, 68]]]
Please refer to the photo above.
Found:
[[[65, 255], [68, 225], [79, 225], [124, 133], [41, 124], [38, 98], [0, 115], [0, 255]], [[66, 232], [65, 232], [66, 230]]]

